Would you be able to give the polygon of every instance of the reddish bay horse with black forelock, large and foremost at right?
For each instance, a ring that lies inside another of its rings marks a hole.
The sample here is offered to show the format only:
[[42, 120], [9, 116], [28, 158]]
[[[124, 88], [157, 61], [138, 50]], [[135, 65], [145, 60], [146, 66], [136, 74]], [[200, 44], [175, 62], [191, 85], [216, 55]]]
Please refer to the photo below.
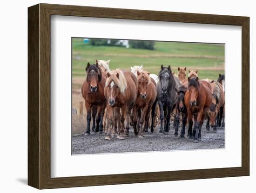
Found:
[[[206, 81], [199, 81], [198, 77], [188, 77], [189, 85], [185, 94], [185, 105], [188, 109], [189, 117], [189, 140], [201, 141], [201, 129], [204, 117], [212, 103], [211, 86]], [[193, 116], [195, 127], [193, 129]]]

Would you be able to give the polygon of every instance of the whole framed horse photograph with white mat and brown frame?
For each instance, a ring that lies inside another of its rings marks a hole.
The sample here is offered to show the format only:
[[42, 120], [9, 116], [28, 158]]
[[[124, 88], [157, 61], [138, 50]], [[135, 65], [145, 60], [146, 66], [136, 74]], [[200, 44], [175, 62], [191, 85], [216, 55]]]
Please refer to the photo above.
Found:
[[28, 185], [249, 175], [249, 17], [28, 8]]

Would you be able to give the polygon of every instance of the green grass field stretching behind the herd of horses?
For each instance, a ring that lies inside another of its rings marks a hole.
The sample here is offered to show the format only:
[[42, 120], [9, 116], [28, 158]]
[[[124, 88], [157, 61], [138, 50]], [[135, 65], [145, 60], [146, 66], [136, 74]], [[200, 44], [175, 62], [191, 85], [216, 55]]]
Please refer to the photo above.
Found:
[[[217, 79], [224, 73], [224, 45], [180, 42], [155, 42], [155, 50], [133, 49], [118, 46], [92, 46], [83, 39], [72, 39], [73, 77], [85, 76], [87, 63], [95, 59], [111, 59], [110, 69], [130, 70], [130, 66], [141, 65], [152, 74], [158, 74], [160, 66], [171, 65], [177, 73], [178, 67], [199, 70], [199, 78]], [[188, 71], [187, 70], [187, 71]]]

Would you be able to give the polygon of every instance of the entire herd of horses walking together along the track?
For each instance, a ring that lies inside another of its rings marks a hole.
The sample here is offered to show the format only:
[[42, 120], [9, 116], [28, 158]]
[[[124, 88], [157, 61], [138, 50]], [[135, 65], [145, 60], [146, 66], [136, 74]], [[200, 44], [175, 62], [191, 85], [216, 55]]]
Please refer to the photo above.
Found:
[[[110, 60], [97, 60], [85, 68], [87, 73], [81, 93], [87, 110], [85, 135], [106, 133], [105, 139], [125, 139], [130, 126], [139, 138], [145, 137], [150, 127], [153, 133], [160, 122], [160, 132], [168, 134], [171, 118], [178, 135], [185, 137], [189, 123], [189, 141], [201, 141], [201, 129], [207, 118], [206, 131], [216, 132], [224, 127], [225, 77], [217, 80], [199, 79], [198, 71], [178, 68], [177, 75], [171, 66], [161, 65], [158, 75], [151, 74], [143, 66], [131, 67], [131, 71], [110, 71]], [[92, 131], [90, 129], [91, 119]], [[194, 127], [193, 127], [194, 123]], [[193, 129], [192, 129], [193, 127]]]

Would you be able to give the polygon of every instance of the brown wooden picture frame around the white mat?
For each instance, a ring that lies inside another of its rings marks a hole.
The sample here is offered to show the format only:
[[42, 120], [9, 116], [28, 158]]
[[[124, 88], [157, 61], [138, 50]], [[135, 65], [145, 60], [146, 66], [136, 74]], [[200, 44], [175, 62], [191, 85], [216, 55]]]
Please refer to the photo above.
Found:
[[[242, 167], [51, 178], [51, 15], [242, 26]], [[249, 17], [52, 4], [28, 8], [29, 186], [47, 189], [246, 175], [249, 175]]]

